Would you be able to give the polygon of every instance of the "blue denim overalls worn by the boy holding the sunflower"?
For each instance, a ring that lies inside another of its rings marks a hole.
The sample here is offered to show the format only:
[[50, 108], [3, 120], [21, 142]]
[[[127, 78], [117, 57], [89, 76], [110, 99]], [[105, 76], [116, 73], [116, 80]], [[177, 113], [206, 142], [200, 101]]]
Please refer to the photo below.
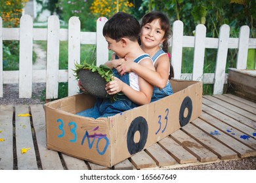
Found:
[[[142, 58], [146, 57], [150, 58], [148, 54], [143, 54], [136, 58], [134, 61], [138, 63]], [[121, 76], [118, 74], [115, 68], [113, 69], [113, 73], [114, 76], [116, 76], [121, 81], [125, 82], [130, 86], [129, 73], [126, 73], [125, 75]], [[95, 106], [93, 108], [89, 108], [81, 112], [78, 112], [77, 115], [96, 119], [100, 117], [114, 116], [118, 113], [124, 112], [125, 110], [129, 110], [135, 107], [138, 107], [138, 105], [133, 103], [133, 101], [131, 101], [126, 95], [119, 92], [117, 95], [117, 99], [115, 101], [112, 101], [110, 98], [97, 98]]]

